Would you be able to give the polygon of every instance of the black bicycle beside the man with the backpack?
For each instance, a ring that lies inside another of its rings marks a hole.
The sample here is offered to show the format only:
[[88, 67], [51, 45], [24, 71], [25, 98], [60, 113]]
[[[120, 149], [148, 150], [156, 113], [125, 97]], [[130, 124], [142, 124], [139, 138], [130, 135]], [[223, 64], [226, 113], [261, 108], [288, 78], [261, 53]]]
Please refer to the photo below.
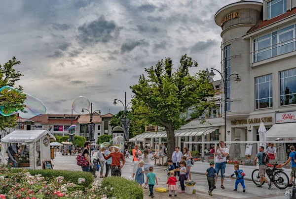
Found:
[[[274, 164], [272, 169], [267, 168], [266, 174], [270, 180], [270, 182], [274, 183], [274, 185], [279, 189], [286, 189], [289, 185], [289, 177], [284, 172], [284, 169], [276, 168], [279, 164]], [[259, 169], [256, 169], [252, 172], [252, 180], [254, 184], [259, 185], [260, 177], [259, 177]], [[264, 181], [262, 182], [262, 185]]]

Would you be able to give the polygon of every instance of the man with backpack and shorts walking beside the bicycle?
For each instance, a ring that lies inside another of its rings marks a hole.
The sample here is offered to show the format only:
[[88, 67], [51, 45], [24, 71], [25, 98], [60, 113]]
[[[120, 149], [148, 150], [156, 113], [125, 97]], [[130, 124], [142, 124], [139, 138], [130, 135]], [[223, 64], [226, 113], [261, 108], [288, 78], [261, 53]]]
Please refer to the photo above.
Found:
[[257, 159], [259, 159], [259, 176], [260, 183], [257, 187], [262, 187], [263, 180], [268, 184], [268, 189], [271, 189], [271, 182], [265, 177], [265, 172], [267, 169], [267, 163], [269, 162], [268, 155], [264, 152], [264, 146], [259, 147], [259, 153], [257, 153], [256, 158], [254, 159], [254, 166], [257, 164]]

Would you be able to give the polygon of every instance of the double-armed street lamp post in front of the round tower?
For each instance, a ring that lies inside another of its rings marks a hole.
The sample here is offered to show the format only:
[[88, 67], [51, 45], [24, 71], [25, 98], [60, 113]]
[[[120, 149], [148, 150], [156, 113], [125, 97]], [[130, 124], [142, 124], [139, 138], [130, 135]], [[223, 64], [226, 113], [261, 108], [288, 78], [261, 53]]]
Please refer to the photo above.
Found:
[[[210, 72], [210, 76], [214, 77], [216, 74], [213, 72], [213, 70], [216, 70], [215, 68], [211, 68], [211, 72]], [[229, 77], [227, 78], [227, 71], [226, 68], [224, 68], [224, 77], [222, 75], [222, 73], [218, 70], [216, 70], [222, 77], [223, 80], [223, 86], [224, 86], [224, 142], [226, 142], [226, 112], [227, 112], [227, 83], [228, 81], [230, 81], [230, 77], [233, 75], [236, 75], [236, 78], [234, 80], [234, 82], [239, 83], [241, 81], [241, 79], [238, 77], [238, 74], [233, 73], [231, 75], [229, 75]]]

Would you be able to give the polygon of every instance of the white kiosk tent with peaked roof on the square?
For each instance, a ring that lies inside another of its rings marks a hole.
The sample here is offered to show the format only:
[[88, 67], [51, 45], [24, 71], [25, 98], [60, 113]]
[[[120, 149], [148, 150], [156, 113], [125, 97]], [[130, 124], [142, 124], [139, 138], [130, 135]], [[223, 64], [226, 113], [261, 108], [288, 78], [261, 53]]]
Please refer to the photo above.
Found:
[[46, 130], [13, 131], [1, 139], [1, 162], [7, 163], [7, 148], [18, 144], [21, 152], [16, 161], [17, 167], [42, 169], [43, 161], [50, 160], [49, 143], [53, 141], [56, 141], [56, 138]]

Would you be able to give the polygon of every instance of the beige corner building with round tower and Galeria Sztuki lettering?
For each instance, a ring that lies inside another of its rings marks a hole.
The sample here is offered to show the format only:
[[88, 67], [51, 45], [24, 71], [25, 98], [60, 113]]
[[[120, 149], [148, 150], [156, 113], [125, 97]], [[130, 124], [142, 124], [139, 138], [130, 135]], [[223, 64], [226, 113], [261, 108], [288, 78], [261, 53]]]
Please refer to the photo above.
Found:
[[259, 141], [260, 122], [268, 140], [295, 140], [296, 0], [241, 0], [222, 7], [215, 22], [222, 74], [242, 80], [227, 85], [226, 140]]

